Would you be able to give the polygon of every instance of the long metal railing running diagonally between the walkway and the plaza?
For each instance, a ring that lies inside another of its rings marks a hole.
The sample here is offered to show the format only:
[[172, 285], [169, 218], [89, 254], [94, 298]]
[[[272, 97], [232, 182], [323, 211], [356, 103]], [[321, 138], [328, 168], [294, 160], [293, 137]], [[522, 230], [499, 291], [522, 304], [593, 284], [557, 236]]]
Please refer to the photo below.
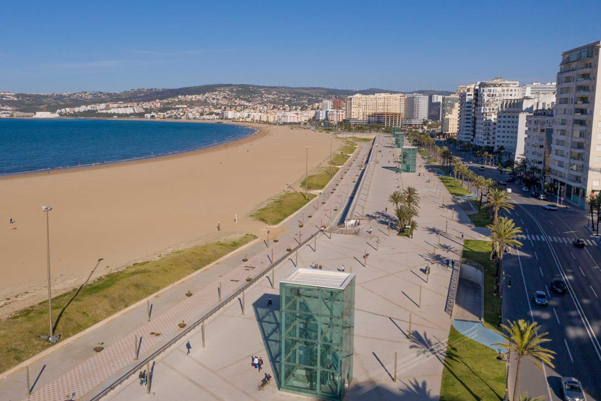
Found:
[[[185, 329], [183, 329], [182, 332], [180, 332], [179, 334], [175, 335], [175, 337], [173, 337], [173, 338], [171, 338], [171, 340], [167, 341], [167, 343], [165, 343], [162, 347], [160, 347], [159, 349], [157, 349], [156, 351], [154, 351], [150, 356], [148, 356], [147, 358], [144, 358], [144, 360], [139, 361], [139, 363], [136, 364], [136, 366], [134, 366], [131, 369], [129, 369], [120, 378], [118, 378], [117, 380], [115, 380], [114, 382], [112, 382], [104, 390], [100, 391], [100, 393], [96, 394], [96, 396], [94, 396], [91, 399], [91, 401], [100, 400], [103, 396], [106, 396], [106, 394], [108, 394], [109, 391], [114, 390], [115, 387], [117, 387], [118, 385], [120, 385], [121, 383], [123, 383], [124, 381], [126, 381], [129, 378], [129, 376], [135, 375], [135, 373], [139, 369], [143, 369], [143, 367], [144, 367], [145, 364], [150, 363], [151, 361], [153, 361], [154, 359], [156, 359], [159, 356], [159, 354], [161, 354], [163, 351], [165, 351], [166, 349], [168, 349], [168, 347], [170, 347], [173, 344], [177, 343], [177, 341], [181, 340], [186, 334], [188, 334], [189, 332], [191, 332], [192, 329], [197, 328], [198, 325], [200, 325], [201, 323], [203, 323], [205, 320], [209, 319], [209, 317], [211, 317], [213, 314], [215, 314], [221, 308], [225, 307], [225, 305], [227, 305], [231, 301], [234, 301], [234, 299], [236, 299], [237, 296], [239, 296], [245, 290], [249, 289], [249, 287], [251, 287], [252, 284], [257, 283], [258, 280], [260, 280], [261, 278], [263, 278], [264, 275], [266, 275], [272, 269], [274, 269], [275, 266], [279, 265], [279, 263], [284, 262], [284, 260], [288, 259], [288, 257], [290, 257], [291, 254], [293, 254], [297, 249], [299, 249], [302, 246], [304, 246], [305, 244], [307, 244], [311, 239], [313, 239], [313, 237], [315, 237], [317, 234], [322, 233], [322, 232], [323, 232], [322, 230], [317, 230], [315, 233], [311, 234], [307, 239], [305, 239], [304, 241], [302, 241], [301, 243], [299, 243], [297, 246], [294, 246], [294, 248], [290, 252], [286, 253], [284, 256], [280, 257], [278, 260], [276, 260], [275, 262], [273, 262], [263, 272], [261, 272], [255, 278], [253, 278], [251, 281], [249, 281], [248, 283], [244, 284], [242, 287], [240, 287], [239, 289], [237, 289], [233, 294], [231, 294], [230, 296], [228, 296], [227, 298], [225, 298], [222, 302], [219, 302], [219, 304], [217, 304], [210, 311], [208, 311], [206, 314], [204, 314], [203, 317], [201, 317], [200, 319], [198, 319], [196, 322], [191, 323], [190, 325], [188, 325], [188, 327], [186, 327]], [[274, 286], [275, 286], [275, 284], [274, 284]]]

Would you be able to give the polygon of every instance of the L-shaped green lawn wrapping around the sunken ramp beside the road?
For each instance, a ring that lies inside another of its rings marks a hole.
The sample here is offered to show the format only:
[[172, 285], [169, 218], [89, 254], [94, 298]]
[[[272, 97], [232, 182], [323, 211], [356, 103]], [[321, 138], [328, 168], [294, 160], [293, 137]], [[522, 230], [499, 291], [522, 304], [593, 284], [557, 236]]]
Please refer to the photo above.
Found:
[[463, 254], [465, 259], [473, 260], [484, 267], [484, 317], [483, 324], [487, 328], [501, 332], [497, 324], [501, 317], [501, 299], [493, 295], [496, 283], [496, 263], [490, 260], [490, 242], [466, 239], [463, 242]]

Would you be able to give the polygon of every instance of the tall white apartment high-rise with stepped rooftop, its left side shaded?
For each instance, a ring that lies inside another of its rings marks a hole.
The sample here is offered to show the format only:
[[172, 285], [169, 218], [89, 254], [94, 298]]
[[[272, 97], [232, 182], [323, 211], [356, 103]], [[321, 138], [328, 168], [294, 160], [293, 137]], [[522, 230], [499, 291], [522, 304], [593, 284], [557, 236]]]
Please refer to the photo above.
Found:
[[522, 97], [522, 87], [519, 86], [518, 81], [495, 78], [492, 81], [478, 82], [474, 144], [495, 146], [494, 126], [499, 103], [503, 99], [519, 99], [520, 97]]

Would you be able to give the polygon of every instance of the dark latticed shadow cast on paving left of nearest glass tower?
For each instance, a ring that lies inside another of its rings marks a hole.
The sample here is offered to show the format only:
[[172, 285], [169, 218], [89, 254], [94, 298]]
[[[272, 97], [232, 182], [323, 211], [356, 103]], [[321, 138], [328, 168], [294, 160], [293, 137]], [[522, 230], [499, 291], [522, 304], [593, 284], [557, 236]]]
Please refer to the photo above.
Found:
[[[272, 297], [273, 305], [267, 307], [267, 297]], [[279, 295], [263, 294], [252, 304], [257, 319], [267, 358], [272, 368], [273, 378], [279, 388]]]

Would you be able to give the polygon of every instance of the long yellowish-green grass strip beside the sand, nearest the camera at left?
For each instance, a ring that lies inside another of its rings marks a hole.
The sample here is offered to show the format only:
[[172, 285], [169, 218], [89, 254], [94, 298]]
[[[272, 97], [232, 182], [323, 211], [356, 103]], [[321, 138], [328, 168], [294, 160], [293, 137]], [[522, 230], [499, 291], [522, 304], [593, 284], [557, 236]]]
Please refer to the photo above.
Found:
[[[52, 298], [52, 317], [55, 322], [58, 320], [55, 333], [62, 334], [63, 341], [255, 238], [252, 234], [246, 234], [237, 239], [209, 242], [175, 251], [159, 260], [134, 263], [123, 271], [85, 284], [81, 289], [55, 296]], [[104, 266], [99, 266], [99, 270], [101, 268]], [[191, 287], [189, 290], [194, 292], [195, 289]], [[47, 301], [0, 320], [0, 372], [52, 346], [49, 341], [39, 338], [41, 334], [48, 334]], [[102, 341], [102, 338], [98, 338], [98, 341]], [[96, 343], [90, 344], [90, 355], [95, 346]]]

